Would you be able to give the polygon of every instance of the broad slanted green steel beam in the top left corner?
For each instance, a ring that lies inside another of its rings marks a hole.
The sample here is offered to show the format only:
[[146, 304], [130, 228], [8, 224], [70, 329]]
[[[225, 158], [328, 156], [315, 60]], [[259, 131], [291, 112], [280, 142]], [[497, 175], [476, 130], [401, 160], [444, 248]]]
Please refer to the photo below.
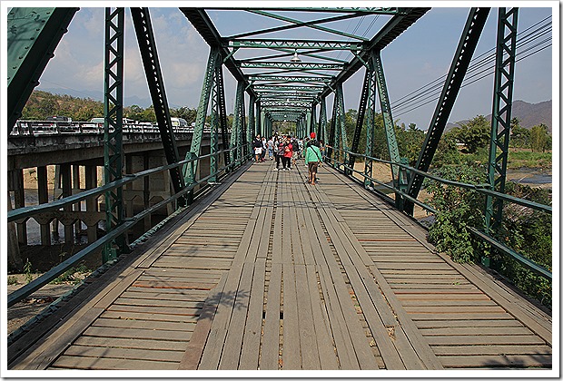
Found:
[[7, 26], [7, 125], [9, 135], [54, 50], [80, 8], [14, 7]]

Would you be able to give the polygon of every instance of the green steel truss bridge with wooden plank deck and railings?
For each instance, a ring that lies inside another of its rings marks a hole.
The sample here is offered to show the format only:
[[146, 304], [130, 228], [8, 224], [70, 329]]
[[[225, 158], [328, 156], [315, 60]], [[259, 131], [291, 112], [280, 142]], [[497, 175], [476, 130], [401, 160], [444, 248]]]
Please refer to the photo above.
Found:
[[[487, 200], [482, 210], [487, 230], [474, 229], [475, 236], [502, 257], [551, 280], [548, 269], [493, 234], [506, 203], [551, 213], [549, 206], [504, 193], [519, 9], [499, 8], [496, 15], [487, 184], [444, 181], [428, 173], [484, 24], [495, 16], [487, 7], [469, 9], [416, 165], [401, 157], [381, 51], [429, 10], [237, 8], [282, 21], [282, 26], [222, 35], [210, 12], [234, 9], [180, 8], [210, 46], [190, 152], [180, 158], [150, 12], [131, 8], [167, 165], [125, 174], [125, 12], [106, 8], [104, 185], [9, 210], [7, 218], [9, 224], [25, 223], [104, 196], [107, 234], [11, 293], [7, 306], [87, 255], [102, 251], [104, 266], [87, 279], [88, 287], [58, 299], [8, 337], [8, 368], [551, 368], [550, 312], [490, 269], [455, 263], [437, 252], [411, 218], [415, 205], [440, 213], [418, 198], [427, 177], [476, 190]], [[77, 11], [10, 11], [8, 135]], [[364, 16], [386, 22], [368, 37], [328, 26]], [[327, 37], [291, 38], [294, 30], [321, 31]], [[334, 52], [352, 58], [343, 60]], [[223, 68], [237, 81], [230, 133]], [[347, 136], [342, 84], [358, 71], [365, 73], [358, 121], [353, 136]], [[329, 120], [327, 97], [332, 95]], [[378, 105], [389, 161], [372, 154]], [[202, 155], [208, 115], [212, 148]], [[307, 173], [300, 161], [289, 172], [272, 171], [267, 162], [252, 165], [252, 137], [272, 135], [281, 121], [294, 123], [298, 136], [316, 132], [327, 143], [319, 185], [303, 184]], [[367, 147], [359, 152], [362, 134]], [[209, 163], [205, 177], [197, 171], [202, 159]], [[355, 169], [355, 161], [365, 163], [363, 171]], [[389, 166], [390, 184], [372, 176], [373, 162]], [[126, 216], [124, 187], [163, 171], [170, 173], [171, 197]], [[128, 230], [168, 204], [176, 211], [158, 229], [127, 242]]]

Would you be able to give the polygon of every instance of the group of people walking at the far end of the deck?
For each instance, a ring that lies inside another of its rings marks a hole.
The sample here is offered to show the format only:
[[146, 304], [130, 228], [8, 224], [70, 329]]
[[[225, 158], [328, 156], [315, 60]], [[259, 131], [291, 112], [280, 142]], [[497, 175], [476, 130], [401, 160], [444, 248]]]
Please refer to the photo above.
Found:
[[[297, 159], [305, 159], [305, 165], [308, 166], [309, 179], [308, 183], [316, 184], [317, 170], [322, 161], [322, 142], [317, 141], [315, 132], [311, 132], [309, 137], [305, 139], [296, 139], [291, 135], [275, 134], [270, 139], [256, 135], [252, 141], [252, 149], [254, 150], [255, 163], [268, 160], [275, 160], [276, 167], [273, 171], [291, 171], [291, 165], [295, 165]], [[280, 168], [282, 162], [282, 168]]]

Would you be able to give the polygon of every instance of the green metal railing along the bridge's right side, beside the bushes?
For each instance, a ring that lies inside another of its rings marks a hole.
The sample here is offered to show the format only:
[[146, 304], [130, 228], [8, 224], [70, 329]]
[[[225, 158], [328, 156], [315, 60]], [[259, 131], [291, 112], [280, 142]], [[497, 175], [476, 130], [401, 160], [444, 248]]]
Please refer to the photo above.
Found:
[[[410, 165], [407, 165], [407, 164], [404, 164], [404, 163], [394, 162], [394, 161], [386, 161], [386, 160], [374, 158], [374, 157], [371, 157], [371, 156], [367, 156], [365, 154], [347, 151], [347, 150], [342, 150], [342, 149], [331, 147], [331, 146], [328, 146], [328, 145], [327, 145], [327, 147], [331, 148], [332, 151], [340, 151], [342, 153], [341, 156], [344, 157], [344, 158], [347, 157], [347, 155], [354, 155], [355, 157], [363, 158], [366, 161], [377, 161], [377, 162], [381, 162], [381, 163], [384, 163], [384, 164], [388, 164], [389, 166], [395, 165], [395, 166], [400, 167], [400, 171], [408, 171], [410, 173], [418, 173], [418, 174], [424, 176], [427, 179], [430, 179], [430, 180], [433, 180], [433, 181], [439, 181], [442, 184], [446, 184], [446, 185], [454, 186], [454, 187], [459, 187], [459, 188], [464, 188], [464, 189], [467, 189], [467, 190], [475, 190], [479, 193], [490, 195], [492, 197], [495, 197], [495, 198], [498, 198], [498, 199], [501, 199], [501, 200], [505, 200], [505, 201], [508, 201], [508, 202], [511, 202], [511, 203], [515, 203], [515, 204], [518, 204], [518, 205], [523, 206], [525, 208], [530, 208], [530, 209], [533, 209], [533, 210], [539, 210], [541, 212], [552, 214], [552, 208], [548, 205], [540, 204], [538, 202], [534, 202], [534, 201], [530, 201], [530, 200], [519, 199], [517, 197], [510, 196], [508, 194], [504, 194], [504, 193], [500, 193], [500, 192], [495, 191], [495, 190], [491, 190], [489, 184], [469, 184], [469, 183], [459, 182], [459, 181], [449, 181], [449, 180], [446, 180], [446, 179], [442, 179], [438, 176], [434, 176], [429, 172], [420, 171], [420, 170], [413, 168]], [[337, 156], [337, 155], [334, 155], [334, 156]], [[364, 179], [364, 181], [363, 181], [364, 184], [366, 183], [365, 180], [369, 180], [373, 183], [376, 183], [380, 187], [383, 187], [387, 190], [394, 192], [395, 195], [396, 195], [395, 197], [399, 196], [399, 197], [402, 197], [403, 199], [410, 200], [413, 203], [415, 203], [416, 205], [419, 205], [422, 209], [428, 210], [435, 215], [440, 214], [440, 212], [442, 211], [442, 210], [436, 210], [436, 209], [432, 208], [430, 205], [428, 205], [427, 203], [411, 197], [407, 192], [405, 192], [404, 190], [401, 190], [399, 187], [397, 187], [396, 184], [391, 186], [384, 181], [380, 181], [378, 179], [375, 179], [375, 178], [367, 175], [363, 171], [357, 171], [354, 168], [351, 168], [350, 166], [346, 165], [346, 163], [338, 161], [336, 158], [324, 156], [324, 160], [330, 162], [333, 168], [335, 168], [339, 171], [342, 171], [344, 173], [357, 173], [358, 175], [361, 176], [361, 178]], [[351, 179], [354, 179], [353, 176], [349, 176], [349, 177], [351, 177]], [[356, 181], [358, 181], [358, 180], [356, 180]], [[376, 190], [373, 187], [371, 187], [370, 190], [380, 194], [380, 196], [388, 199], [389, 201], [394, 201], [389, 196], [387, 196], [386, 194], [384, 194], [381, 191]], [[548, 279], [549, 282], [552, 280], [552, 273], [548, 269], [546, 269], [545, 267], [539, 265], [534, 260], [528, 259], [526, 256], [520, 254], [519, 252], [515, 251], [514, 249], [509, 248], [508, 246], [506, 246], [504, 243], [502, 243], [498, 239], [491, 237], [487, 232], [479, 230], [477, 227], [469, 227], [469, 229], [475, 235], [475, 237], [477, 237], [478, 239], [480, 239], [484, 242], [487, 242], [494, 249], [499, 250], [499, 252], [503, 253], [504, 255], [508, 255], [512, 259], [516, 259], [522, 266], [524, 266], [525, 268], [533, 271], [534, 273], [538, 274], [539, 276]]]

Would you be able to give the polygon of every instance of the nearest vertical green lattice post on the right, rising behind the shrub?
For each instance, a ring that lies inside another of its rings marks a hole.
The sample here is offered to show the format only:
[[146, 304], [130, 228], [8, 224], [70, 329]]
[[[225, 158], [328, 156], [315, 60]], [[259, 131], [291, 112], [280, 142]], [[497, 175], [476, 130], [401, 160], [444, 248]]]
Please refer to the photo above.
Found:
[[[507, 8], [499, 8], [488, 179], [490, 188], [500, 193], [504, 193], [509, 159], [518, 14], [519, 8], [511, 8], [509, 11]], [[493, 200], [492, 196], [487, 196], [485, 220], [489, 233], [495, 233], [500, 228], [502, 205], [502, 199]]]

